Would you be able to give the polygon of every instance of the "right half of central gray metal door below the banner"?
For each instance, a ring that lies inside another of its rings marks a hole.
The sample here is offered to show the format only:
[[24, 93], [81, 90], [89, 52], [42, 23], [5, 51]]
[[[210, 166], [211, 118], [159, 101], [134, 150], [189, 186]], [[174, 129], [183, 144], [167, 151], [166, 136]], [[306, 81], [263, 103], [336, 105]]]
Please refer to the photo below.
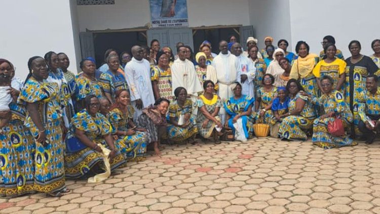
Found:
[[173, 50], [173, 54], [177, 53], [176, 44], [182, 42], [184, 45], [188, 45], [194, 50], [193, 43], [193, 30], [191, 28], [171, 28], [169, 29], [170, 48]]

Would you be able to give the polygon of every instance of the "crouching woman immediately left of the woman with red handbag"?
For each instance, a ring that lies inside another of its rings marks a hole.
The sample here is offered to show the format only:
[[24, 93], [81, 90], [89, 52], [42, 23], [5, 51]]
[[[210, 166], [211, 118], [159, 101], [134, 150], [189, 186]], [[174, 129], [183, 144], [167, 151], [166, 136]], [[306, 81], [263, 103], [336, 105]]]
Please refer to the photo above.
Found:
[[303, 88], [298, 81], [289, 80], [286, 90], [290, 94], [288, 113], [281, 122], [278, 135], [282, 139], [307, 140], [308, 135], [305, 131], [313, 127], [317, 114], [308, 101], [308, 97], [300, 94]]

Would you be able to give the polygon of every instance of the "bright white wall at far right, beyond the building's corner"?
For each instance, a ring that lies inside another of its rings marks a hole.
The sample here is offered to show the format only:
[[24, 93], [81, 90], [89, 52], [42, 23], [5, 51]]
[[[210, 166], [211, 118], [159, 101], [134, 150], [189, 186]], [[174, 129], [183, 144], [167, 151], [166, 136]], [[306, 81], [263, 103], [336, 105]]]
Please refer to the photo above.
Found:
[[360, 41], [362, 54], [370, 55], [371, 42], [380, 38], [375, 24], [378, 8], [378, 0], [290, 0], [292, 44], [304, 40], [311, 52], [319, 54], [323, 37], [332, 35], [345, 58], [350, 56], [348, 44], [352, 40]]

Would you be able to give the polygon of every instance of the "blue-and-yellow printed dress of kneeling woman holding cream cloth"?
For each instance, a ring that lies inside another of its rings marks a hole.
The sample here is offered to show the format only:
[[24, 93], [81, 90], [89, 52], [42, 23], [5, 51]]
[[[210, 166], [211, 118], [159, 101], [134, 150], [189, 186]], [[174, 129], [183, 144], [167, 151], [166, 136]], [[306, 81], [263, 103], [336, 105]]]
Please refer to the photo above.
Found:
[[[96, 117], [92, 117], [86, 109], [78, 112], [71, 120], [69, 131], [66, 140], [75, 136], [75, 129], [85, 132], [85, 135], [95, 144], [101, 144], [109, 149], [104, 135], [111, 133], [111, 126], [108, 120], [100, 113], [96, 113]], [[120, 152], [122, 149], [115, 143], [115, 148], [118, 150], [115, 158], [110, 162], [111, 170], [114, 170], [126, 163], [124, 155]], [[79, 179], [86, 175], [94, 166], [103, 167], [103, 156], [92, 148], [69, 153], [65, 153], [65, 174], [69, 179]]]

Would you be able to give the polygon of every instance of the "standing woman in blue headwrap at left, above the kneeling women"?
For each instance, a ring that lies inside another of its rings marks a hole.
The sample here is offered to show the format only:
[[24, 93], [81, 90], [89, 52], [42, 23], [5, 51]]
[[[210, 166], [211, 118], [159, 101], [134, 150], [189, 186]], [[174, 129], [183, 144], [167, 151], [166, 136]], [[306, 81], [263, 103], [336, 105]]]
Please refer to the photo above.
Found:
[[102, 88], [100, 86], [100, 82], [98, 80], [99, 74], [95, 69], [95, 63], [89, 59], [83, 59], [80, 63], [80, 67], [82, 69], [82, 73], [75, 77], [75, 83], [77, 86], [75, 89], [75, 110], [77, 112], [81, 111], [85, 107], [85, 103], [83, 103], [85, 97], [87, 95], [95, 95], [98, 99], [100, 99], [104, 94]]

